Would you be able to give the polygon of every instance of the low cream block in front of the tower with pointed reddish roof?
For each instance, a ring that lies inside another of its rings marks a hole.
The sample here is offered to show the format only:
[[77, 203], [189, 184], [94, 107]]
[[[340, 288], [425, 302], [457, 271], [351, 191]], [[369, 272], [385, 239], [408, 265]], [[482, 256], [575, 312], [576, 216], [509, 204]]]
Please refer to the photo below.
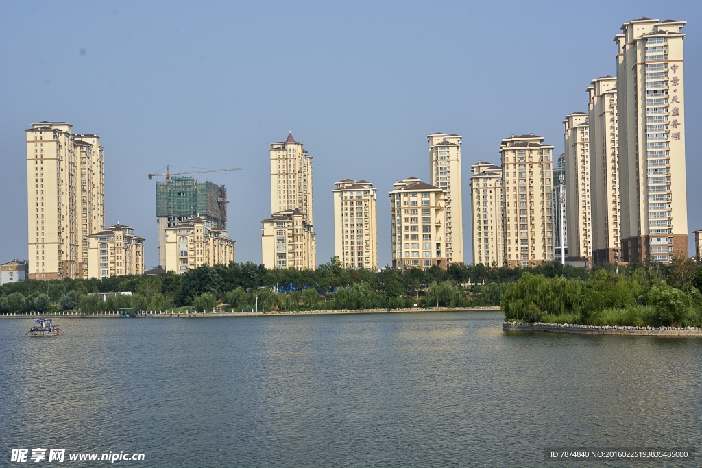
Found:
[[268, 269], [317, 267], [317, 239], [299, 208], [274, 213], [261, 221], [263, 266]]

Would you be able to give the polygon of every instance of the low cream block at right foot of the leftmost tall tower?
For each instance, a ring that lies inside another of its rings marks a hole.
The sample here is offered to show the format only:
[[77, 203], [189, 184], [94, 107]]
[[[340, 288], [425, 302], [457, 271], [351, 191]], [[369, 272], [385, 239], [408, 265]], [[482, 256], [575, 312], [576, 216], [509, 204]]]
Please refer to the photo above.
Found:
[[108, 226], [88, 236], [88, 278], [144, 273], [143, 237], [133, 227]]

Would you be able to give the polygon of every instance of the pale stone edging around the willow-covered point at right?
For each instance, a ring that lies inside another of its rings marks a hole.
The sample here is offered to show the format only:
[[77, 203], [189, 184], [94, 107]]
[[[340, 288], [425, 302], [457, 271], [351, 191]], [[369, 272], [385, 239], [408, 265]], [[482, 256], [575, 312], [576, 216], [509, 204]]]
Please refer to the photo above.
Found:
[[637, 327], [593, 326], [573, 323], [504, 322], [503, 330], [555, 333], [580, 333], [583, 335], [647, 335], [647, 336], [702, 336], [701, 327]]

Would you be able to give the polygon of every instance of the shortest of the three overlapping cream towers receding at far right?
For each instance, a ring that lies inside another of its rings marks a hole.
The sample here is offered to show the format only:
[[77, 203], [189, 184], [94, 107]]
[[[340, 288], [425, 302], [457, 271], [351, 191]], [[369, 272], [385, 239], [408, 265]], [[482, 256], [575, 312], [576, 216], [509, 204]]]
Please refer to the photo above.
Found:
[[574, 112], [563, 120], [566, 163], [566, 229], [570, 257], [592, 257], [590, 218], [590, 124], [588, 114]]

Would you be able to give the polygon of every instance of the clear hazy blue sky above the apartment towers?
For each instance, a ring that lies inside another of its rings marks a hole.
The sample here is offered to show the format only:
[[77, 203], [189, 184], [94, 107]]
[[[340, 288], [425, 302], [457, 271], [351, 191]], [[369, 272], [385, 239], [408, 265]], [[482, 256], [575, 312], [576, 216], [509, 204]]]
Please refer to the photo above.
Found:
[[[615, 75], [612, 39], [633, 18], [687, 20], [687, 195], [702, 227], [702, 8], [694, 1], [1, 2], [0, 261], [27, 257], [25, 128], [67, 121], [105, 147], [106, 222], [132, 225], [157, 265], [155, 180], [166, 164], [240, 167], [229, 193], [237, 261], [260, 262], [270, 215], [268, 145], [292, 131], [314, 156], [317, 260], [333, 256], [333, 182], [387, 192], [428, 178], [426, 135], [463, 135], [465, 260], [470, 164], [500, 140], [543, 135], [587, 111], [590, 80]], [[84, 53], [81, 53], [81, 49]], [[692, 245], [692, 244], [691, 244]]]

